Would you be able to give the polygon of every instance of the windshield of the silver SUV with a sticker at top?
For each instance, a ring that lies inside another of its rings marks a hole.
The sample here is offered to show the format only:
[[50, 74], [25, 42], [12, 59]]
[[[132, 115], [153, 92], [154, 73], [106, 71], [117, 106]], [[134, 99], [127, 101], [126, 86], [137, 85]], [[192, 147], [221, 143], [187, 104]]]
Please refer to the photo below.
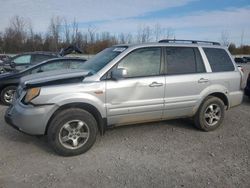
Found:
[[90, 60], [86, 61], [81, 68], [96, 73], [107, 65], [111, 60], [126, 50], [127, 46], [114, 46], [99, 52]]

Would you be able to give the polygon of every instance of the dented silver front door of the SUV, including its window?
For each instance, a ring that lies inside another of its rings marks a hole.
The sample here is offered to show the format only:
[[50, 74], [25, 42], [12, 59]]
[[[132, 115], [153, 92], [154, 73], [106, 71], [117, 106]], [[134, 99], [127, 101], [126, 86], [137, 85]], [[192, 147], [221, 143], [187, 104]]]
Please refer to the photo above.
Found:
[[127, 76], [106, 81], [109, 125], [162, 118], [165, 78], [161, 54], [160, 47], [136, 49], [114, 67], [126, 69]]

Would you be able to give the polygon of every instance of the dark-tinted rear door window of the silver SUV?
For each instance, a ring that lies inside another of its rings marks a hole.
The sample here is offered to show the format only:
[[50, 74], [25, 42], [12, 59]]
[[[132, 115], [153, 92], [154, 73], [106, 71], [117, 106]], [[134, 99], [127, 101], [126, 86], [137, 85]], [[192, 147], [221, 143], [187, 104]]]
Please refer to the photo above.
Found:
[[197, 48], [168, 47], [166, 49], [167, 74], [191, 74], [205, 72]]

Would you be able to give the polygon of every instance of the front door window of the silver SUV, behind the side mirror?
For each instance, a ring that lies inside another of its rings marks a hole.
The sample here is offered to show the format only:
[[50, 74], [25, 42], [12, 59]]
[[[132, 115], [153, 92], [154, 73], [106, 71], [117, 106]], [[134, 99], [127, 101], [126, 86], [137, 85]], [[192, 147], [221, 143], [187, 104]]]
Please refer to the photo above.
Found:
[[154, 76], [160, 74], [161, 48], [142, 48], [131, 52], [118, 64], [127, 70], [126, 77]]

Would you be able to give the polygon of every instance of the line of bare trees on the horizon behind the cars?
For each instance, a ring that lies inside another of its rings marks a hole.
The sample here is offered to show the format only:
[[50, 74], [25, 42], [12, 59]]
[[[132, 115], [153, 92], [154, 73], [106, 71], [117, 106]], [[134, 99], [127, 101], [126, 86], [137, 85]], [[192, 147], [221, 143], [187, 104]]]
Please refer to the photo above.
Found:
[[[114, 44], [153, 42], [163, 38], [174, 39], [174, 30], [155, 24], [154, 26], [138, 25], [137, 32], [133, 34], [99, 32], [94, 26], [89, 26], [82, 31], [76, 20], [68, 22], [67, 19], [56, 16], [50, 19], [46, 32], [38, 33], [34, 32], [29, 21], [23, 17], [14, 16], [10, 19], [9, 26], [0, 32], [0, 53], [58, 52], [61, 48], [73, 44], [85, 54], [96, 54]], [[230, 44], [226, 32], [222, 32], [221, 42], [228, 45], [233, 54], [250, 54], [250, 46], [236, 47], [235, 44]]]

